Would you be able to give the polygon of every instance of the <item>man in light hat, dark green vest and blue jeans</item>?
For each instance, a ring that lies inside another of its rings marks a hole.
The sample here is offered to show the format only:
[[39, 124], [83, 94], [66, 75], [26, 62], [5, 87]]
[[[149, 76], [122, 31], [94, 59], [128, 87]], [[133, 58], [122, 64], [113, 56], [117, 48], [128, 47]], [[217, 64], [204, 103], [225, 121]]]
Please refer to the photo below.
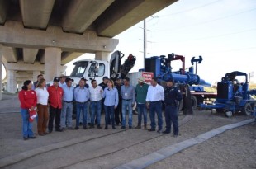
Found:
[[135, 87], [136, 102], [138, 109], [138, 126], [135, 129], [141, 129], [142, 115], [144, 118], [144, 129], [147, 129], [147, 106], [146, 96], [149, 85], [145, 82], [145, 77], [138, 78], [138, 84]]

